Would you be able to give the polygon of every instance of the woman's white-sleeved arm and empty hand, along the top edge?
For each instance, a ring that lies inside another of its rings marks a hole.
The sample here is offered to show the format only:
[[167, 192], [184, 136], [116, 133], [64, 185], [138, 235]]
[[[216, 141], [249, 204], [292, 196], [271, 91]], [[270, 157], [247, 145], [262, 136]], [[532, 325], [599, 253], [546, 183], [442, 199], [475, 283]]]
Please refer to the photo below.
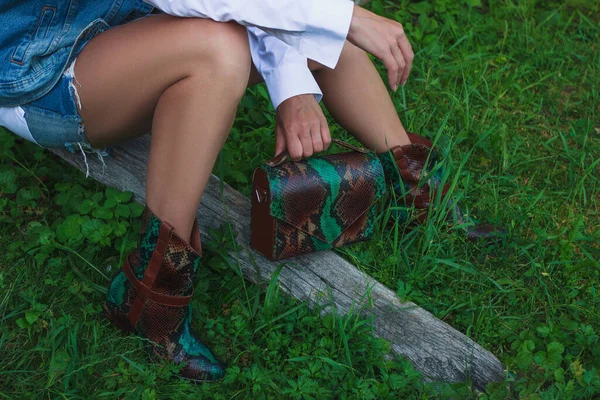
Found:
[[412, 68], [414, 54], [402, 25], [351, 0], [145, 1], [175, 16], [257, 26], [329, 68], [335, 68], [347, 38], [383, 61], [393, 90], [406, 83]]

